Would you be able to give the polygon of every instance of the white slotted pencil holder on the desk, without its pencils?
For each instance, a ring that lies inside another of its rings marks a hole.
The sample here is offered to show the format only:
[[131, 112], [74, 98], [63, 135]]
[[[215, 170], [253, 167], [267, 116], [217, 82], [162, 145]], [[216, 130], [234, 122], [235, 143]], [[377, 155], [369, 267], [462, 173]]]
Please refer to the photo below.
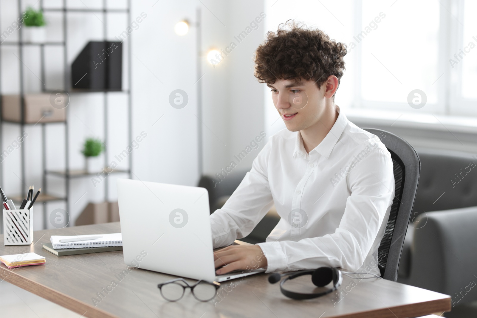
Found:
[[30, 245], [33, 243], [33, 208], [3, 209], [3, 244]]

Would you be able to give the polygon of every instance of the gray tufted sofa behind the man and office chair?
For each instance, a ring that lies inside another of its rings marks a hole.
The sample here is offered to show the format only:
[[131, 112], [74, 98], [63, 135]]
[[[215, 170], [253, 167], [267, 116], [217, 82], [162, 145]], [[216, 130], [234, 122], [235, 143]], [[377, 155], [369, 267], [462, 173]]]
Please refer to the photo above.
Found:
[[[477, 300], [477, 286], [473, 286], [477, 284], [477, 156], [415, 150], [421, 176], [398, 282], [451, 295], [455, 306], [464, 306]], [[209, 191], [211, 213], [223, 205], [245, 174], [233, 172], [216, 187], [212, 178], [201, 179], [199, 186]], [[278, 215], [267, 214], [244, 240], [263, 242], [278, 220]], [[477, 308], [476, 303], [468, 306]], [[451, 313], [457, 311], [454, 307]], [[454, 317], [451, 313], [446, 317]]]

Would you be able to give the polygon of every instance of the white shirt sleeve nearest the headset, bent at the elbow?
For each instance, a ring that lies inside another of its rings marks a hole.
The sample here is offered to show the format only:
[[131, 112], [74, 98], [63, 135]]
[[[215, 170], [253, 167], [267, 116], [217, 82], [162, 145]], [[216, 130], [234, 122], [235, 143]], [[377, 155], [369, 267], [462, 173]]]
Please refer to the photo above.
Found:
[[[357, 271], [363, 266], [394, 199], [393, 162], [388, 151], [372, 150], [347, 175], [351, 195], [332, 234], [295, 241], [259, 243], [267, 273], [320, 266]], [[378, 243], [379, 246], [379, 243]]]

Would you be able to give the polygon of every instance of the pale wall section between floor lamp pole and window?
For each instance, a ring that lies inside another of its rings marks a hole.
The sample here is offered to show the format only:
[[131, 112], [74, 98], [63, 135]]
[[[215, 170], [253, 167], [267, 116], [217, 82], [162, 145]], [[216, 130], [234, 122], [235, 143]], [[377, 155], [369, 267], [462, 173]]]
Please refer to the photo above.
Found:
[[[264, 11], [261, 0], [208, 1], [204, 4], [217, 18], [202, 6], [205, 24], [203, 48], [216, 48], [220, 51], [226, 50], [231, 42], [237, 45], [215, 68], [206, 62], [204, 118], [208, 121], [206, 124], [209, 129], [220, 141], [207, 128], [204, 129], [208, 132], [204, 135], [205, 173], [215, 175], [231, 161], [237, 164], [236, 169], [249, 169], [264, 144], [262, 141], [260, 148], [252, 150], [240, 163], [234, 158], [234, 155], [244, 150], [261, 131], [265, 131], [262, 88], [265, 84], [260, 84], [253, 76], [253, 54], [264, 40], [265, 21], [257, 23], [256, 30], [247, 30], [250, 23]], [[239, 42], [235, 37], [242, 31], [250, 33]], [[217, 38], [215, 34], [220, 37]]]

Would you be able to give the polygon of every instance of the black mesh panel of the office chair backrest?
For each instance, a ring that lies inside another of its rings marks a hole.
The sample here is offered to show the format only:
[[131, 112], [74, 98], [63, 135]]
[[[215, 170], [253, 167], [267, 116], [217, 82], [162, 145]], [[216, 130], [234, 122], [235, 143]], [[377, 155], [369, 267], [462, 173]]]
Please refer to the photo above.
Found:
[[401, 198], [403, 196], [405, 175], [403, 161], [392, 150], [388, 149], [388, 151], [391, 154], [391, 159], [393, 159], [395, 193], [393, 205], [391, 205], [389, 220], [386, 225], [386, 230], [378, 248], [378, 267], [381, 272], [381, 277], [384, 276], [384, 270], [386, 269], [387, 258], [389, 255], [389, 248], [391, 247], [391, 244], [393, 244], [391, 241], [394, 233], [394, 225], [396, 224], [397, 212], [399, 211]]

